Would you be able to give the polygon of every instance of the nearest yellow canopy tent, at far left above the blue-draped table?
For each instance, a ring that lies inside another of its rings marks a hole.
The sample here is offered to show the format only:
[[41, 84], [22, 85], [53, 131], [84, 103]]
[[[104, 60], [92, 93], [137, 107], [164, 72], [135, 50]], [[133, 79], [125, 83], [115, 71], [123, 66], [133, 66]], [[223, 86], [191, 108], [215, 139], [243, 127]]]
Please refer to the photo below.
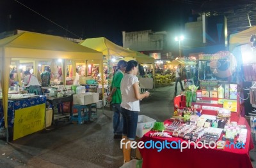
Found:
[[[66, 67], [68, 60], [99, 60], [100, 66], [103, 65], [101, 52], [77, 45], [58, 36], [22, 32], [21, 34], [0, 39], [0, 80], [3, 93], [4, 121], [7, 121], [8, 117], [8, 88], [11, 62], [14, 61], [19, 64], [20, 60], [39, 61], [52, 59], [63, 59], [64, 67]], [[65, 71], [66, 68], [63, 68], [63, 74], [66, 74]], [[37, 66], [34, 67], [34, 72], [37, 72]], [[101, 68], [100, 73], [103, 75], [103, 68]], [[63, 79], [65, 84], [65, 76]], [[103, 89], [102, 93], [104, 93]], [[5, 122], [4, 126], [8, 135], [8, 123]], [[8, 141], [8, 136], [6, 137]]]

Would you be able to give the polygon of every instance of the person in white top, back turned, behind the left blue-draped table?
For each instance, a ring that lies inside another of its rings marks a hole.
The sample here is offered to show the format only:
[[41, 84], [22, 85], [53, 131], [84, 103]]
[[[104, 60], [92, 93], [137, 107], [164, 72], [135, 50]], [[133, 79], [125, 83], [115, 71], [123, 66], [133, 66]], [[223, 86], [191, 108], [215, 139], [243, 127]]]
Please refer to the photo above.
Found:
[[25, 71], [24, 86], [28, 89], [29, 94], [42, 95], [41, 85], [35, 75]]

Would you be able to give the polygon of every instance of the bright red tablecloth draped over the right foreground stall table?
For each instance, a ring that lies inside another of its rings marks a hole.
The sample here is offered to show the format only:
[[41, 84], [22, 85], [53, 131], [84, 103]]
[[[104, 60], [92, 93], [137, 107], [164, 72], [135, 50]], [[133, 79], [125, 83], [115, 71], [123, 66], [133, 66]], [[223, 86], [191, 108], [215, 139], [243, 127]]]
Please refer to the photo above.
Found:
[[[164, 123], [168, 123], [166, 120]], [[252, 167], [249, 157], [249, 151], [254, 148], [253, 139], [251, 136], [250, 126], [245, 118], [241, 117], [239, 125], [246, 125], [247, 139], [244, 149], [224, 148], [220, 149], [184, 149], [182, 152], [177, 149], [163, 149], [157, 152], [157, 149], [140, 149], [143, 158], [143, 167]], [[141, 141], [164, 141], [165, 139], [170, 143], [172, 141], [184, 141], [179, 137], [161, 138], [149, 137], [150, 132], [145, 134]]]

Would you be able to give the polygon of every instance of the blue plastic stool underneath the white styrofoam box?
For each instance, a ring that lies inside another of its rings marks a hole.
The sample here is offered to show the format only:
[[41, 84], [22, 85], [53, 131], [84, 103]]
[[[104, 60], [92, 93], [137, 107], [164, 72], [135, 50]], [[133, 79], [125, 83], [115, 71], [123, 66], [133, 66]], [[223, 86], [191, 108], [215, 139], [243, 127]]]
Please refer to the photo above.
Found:
[[[90, 120], [89, 113], [87, 111], [86, 105], [77, 105], [74, 104], [72, 107], [72, 113], [70, 117], [70, 122], [77, 122], [78, 124], [82, 124], [84, 121], [88, 122]], [[77, 116], [73, 115], [74, 109], [77, 109]], [[85, 109], [85, 111], [84, 111]], [[81, 111], [84, 111], [84, 115], [82, 115]]]

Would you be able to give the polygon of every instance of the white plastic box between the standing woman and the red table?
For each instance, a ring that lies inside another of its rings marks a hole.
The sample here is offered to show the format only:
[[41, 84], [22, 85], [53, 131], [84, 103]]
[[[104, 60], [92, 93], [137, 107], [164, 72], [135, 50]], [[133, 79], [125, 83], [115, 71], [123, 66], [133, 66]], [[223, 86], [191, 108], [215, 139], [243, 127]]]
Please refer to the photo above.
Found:
[[146, 134], [148, 131], [150, 131], [150, 129], [154, 127], [155, 122], [156, 120], [153, 118], [145, 115], [139, 115], [136, 136], [140, 138], [143, 137], [144, 134]]

